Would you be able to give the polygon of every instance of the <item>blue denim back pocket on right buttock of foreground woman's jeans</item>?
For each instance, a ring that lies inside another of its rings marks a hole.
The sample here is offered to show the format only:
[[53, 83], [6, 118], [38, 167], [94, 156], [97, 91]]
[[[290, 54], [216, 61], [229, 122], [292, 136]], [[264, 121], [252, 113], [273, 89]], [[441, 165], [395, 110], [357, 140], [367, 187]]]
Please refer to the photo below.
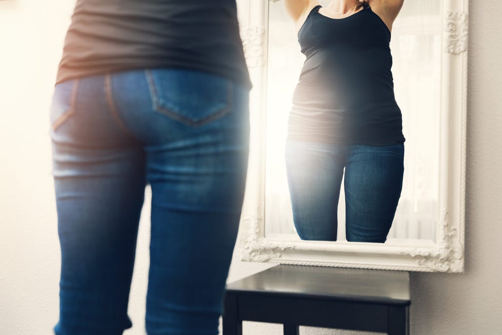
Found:
[[232, 109], [232, 81], [185, 69], [145, 70], [153, 109], [191, 127], [200, 127]]

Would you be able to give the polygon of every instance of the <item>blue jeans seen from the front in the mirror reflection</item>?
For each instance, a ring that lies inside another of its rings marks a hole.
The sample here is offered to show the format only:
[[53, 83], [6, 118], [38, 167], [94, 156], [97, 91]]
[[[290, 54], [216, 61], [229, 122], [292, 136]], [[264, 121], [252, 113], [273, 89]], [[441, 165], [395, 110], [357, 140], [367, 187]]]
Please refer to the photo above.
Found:
[[384, 243], [404, 173], [404, 144], [390, 146], [287, 142], [293, 220], [302, 240], [337, 240], [337, 207], [345, 169], [345, 233], [349, 242]]

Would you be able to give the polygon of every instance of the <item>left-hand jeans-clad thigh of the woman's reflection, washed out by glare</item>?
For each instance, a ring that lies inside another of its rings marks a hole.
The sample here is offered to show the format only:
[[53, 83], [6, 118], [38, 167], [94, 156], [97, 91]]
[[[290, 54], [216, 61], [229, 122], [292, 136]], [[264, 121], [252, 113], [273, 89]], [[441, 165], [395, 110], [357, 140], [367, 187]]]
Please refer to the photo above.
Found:
[[287, 142], [286, 171], [293, 221], [302, 240], [337, 240], [346, 146]]

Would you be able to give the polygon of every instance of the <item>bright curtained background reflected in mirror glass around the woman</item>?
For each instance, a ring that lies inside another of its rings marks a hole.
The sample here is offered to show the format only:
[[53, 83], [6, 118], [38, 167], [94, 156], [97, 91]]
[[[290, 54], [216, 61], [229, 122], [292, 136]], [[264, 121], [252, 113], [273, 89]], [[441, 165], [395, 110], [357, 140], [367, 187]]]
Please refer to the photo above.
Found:
[[[327, 3], [329, 0], [320, 1], [322, 6]], [[402, 112], [406, 153], [403, 187], [386, 243], [435, 240], [440, 157], [441, 2], [406, 0], [393, 23], [391, 36], [394, 94]], [[305, 55], [300, 52], [295, 24], [287, 14], [283, 1], [270, 1], [265, 155], [266, 237], [300, 239], [293, 221], [285, 150], [288, 116], [304, 62]], [[312, 162], [311, 165], [315, 164]], [[308, 169], [304, 168], [300, 172], [308, 173]], [[338, 213], [337, 241], [346, 240], [343, 183], [338, 210], [334, 210], [336, 203], [331, 208], [324, 206], [325, 210], [331, 210], [335, 215]], [[315, 196], [303, 196], [300, 202], [315, 199]]]

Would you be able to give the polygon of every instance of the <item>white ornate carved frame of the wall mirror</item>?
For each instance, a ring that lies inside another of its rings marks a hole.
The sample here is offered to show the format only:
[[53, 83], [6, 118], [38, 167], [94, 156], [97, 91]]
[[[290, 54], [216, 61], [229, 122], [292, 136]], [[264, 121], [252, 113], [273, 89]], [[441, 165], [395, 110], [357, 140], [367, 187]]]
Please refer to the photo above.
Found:
[[238, 252], [244, 261], [406, 271], [464, 270], [468, 0], [442, 2], [440, 192], [436, 239], [407, 244], [286, 241], [265, 237], [268, 0], [237, 0], [253, 82], [251, 142]]

